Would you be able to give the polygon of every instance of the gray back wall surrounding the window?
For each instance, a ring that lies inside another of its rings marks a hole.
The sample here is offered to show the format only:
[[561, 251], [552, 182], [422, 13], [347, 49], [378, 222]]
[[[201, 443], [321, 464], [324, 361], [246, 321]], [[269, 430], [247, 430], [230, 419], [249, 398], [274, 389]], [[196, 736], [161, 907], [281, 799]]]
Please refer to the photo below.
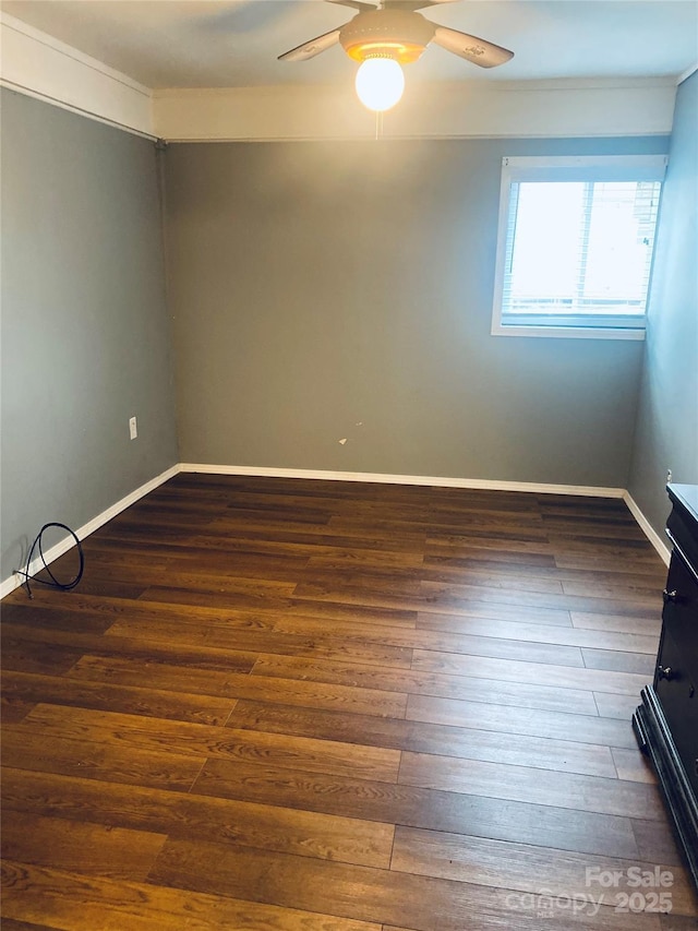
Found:
[[171, 145], [182, 461], [626, 487], [642, 344], [490, 335], [501, 159], [667, 144]]

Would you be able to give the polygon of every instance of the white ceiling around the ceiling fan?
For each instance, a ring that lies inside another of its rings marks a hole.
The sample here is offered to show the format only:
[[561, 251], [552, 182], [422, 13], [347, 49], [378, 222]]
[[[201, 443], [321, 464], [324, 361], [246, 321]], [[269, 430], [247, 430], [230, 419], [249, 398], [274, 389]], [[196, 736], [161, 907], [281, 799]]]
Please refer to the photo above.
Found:
[[[2, 0], [0, 9], [151, 88], [337, 84], [339, 46], [306, 62], [277, 56], [354, 11], [325, 0]], [[423, 15], [515, 51], [484, 71], [436, 46], [412, 80], [676, 77], [698, 62], [698, 0], [460, 0]]]

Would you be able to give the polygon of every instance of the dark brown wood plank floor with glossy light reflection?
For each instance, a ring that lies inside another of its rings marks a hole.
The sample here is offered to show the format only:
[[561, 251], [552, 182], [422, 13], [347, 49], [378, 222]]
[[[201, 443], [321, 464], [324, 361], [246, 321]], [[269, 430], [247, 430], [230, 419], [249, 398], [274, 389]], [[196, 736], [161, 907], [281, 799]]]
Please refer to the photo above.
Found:
[[3, 931], [698, 927], [622, 502], [180, 475], [84, 549], [2, 604]]

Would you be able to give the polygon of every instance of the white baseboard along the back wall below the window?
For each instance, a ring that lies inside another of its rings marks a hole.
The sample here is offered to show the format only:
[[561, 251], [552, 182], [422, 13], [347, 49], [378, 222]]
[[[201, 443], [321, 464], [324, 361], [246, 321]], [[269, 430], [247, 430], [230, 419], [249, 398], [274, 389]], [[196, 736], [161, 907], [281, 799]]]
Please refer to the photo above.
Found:
[[375, 481], [384, 485], [433, 485], [438, 488], [472, 488], [483, 491], [531, 491], [538, 494], [579, 494], [587, 498], [623, 498], [624, 488], [597, 488], [590, 485], [542, 485], [534, 481], [492, 481], [486, 478], [452, 478], [433, 475], [386, 475], [374, 472], [330, 472], [308, 468], [266, 466], [224, 466], [206, 463], [180, 463], [180, 472], [207, 475], [250, 475], [266, 478], [315, 478], [323, 481]]

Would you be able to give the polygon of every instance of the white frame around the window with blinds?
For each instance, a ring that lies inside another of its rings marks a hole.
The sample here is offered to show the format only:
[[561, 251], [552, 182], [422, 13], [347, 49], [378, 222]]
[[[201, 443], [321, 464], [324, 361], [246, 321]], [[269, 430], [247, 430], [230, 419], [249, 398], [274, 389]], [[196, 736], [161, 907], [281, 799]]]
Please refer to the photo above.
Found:
[[666, 163], [665, 155], [505, 156], [502, 159], [492, 335], [645, 339], [645, 325], [636, 325], [633, 329], [594, 326], [591, 314], [588, 323], [576, 326], [561, 325], [553, 321], [541, 325], [502, 321], [512, 184], [518, 181], [663, 181]]

